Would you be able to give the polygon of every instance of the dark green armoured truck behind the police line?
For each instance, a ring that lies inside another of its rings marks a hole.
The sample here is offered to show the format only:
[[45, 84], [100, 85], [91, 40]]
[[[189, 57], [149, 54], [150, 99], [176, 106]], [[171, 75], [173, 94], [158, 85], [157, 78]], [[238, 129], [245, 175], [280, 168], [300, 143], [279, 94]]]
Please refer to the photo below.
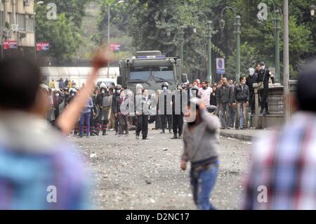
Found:
[[[141, 84], [152, 98], [166, 81], [169, 90], [174, 91], [178, 84], [187, 83], [187, 74], [180, 74], [180, 59], [162, 55], [160, 51], [138, 51], [136, 56], [119, 62], [117, 84], [136, 94], [136, 85]], [[151, 110], [150, 121], [154, 121], [156, 105]]]

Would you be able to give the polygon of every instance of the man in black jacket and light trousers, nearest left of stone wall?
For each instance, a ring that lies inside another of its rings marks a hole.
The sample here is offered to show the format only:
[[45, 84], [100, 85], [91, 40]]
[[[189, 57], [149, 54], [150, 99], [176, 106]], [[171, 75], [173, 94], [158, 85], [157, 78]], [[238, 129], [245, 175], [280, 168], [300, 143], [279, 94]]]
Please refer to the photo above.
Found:
[[240, 114], [243, 117], [243, 127], [246, 129], [247, 124], [247, 111], [249, 105], [249, 87], [246, 85], [246, 77], [240, 77], [239, 84], [235, 88], [234, 103], [237, 103], [237, 118], [235, 128], [239, 130], [240, 126]]

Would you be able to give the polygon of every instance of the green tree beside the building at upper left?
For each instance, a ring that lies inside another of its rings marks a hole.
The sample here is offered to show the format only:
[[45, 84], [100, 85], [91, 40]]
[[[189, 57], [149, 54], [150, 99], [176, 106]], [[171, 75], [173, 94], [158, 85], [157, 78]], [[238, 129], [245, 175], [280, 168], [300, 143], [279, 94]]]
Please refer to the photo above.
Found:
[[48, 20], [46, 4], [36, 5], [36, 38], [38, 42], [50, 43], [49, 57], [57, 63], [70, 61], [77, 55], [82, 44], [81, 25], [85, 15], [86, 4], [90, 0], [55, 1], [57, 6], [57, 20]]

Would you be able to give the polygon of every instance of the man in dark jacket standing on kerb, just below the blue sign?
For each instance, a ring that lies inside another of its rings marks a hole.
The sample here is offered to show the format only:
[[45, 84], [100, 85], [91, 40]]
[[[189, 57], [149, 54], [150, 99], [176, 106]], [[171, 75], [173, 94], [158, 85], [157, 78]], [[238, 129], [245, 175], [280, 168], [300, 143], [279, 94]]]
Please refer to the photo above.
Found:
[[217, 107], [219, 108], [222, 129], [230, 129], [230, 106], [234, 91], [232, 86], [228, 84], [227, 78], [223, 78], [222, 82], [222, 86], [216, 92]]

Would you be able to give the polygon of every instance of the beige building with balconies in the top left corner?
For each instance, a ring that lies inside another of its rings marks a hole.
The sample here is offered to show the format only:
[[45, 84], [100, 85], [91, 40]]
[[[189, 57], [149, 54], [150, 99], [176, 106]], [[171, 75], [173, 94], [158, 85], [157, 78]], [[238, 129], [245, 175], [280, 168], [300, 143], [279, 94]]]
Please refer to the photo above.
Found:
[[35, 55], [34, 0], [0, 0], [1, 57]]

